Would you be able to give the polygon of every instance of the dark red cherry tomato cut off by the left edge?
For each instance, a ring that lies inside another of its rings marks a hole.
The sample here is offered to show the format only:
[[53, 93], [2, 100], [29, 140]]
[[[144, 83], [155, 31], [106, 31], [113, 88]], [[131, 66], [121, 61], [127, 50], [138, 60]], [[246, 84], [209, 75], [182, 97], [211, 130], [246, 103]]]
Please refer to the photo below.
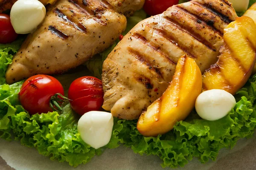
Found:
[[14, 31], [10, 16], [0, 14], [0, 44], [11, 43], [16, 40], [18, 34]]

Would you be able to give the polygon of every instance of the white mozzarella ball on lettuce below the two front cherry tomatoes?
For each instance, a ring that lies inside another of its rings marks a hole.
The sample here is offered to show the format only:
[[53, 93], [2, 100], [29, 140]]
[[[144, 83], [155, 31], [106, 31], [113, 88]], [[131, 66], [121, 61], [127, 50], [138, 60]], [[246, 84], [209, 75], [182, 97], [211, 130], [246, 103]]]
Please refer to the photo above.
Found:
[[81, 116], [77, 129], [85, 143], [98, 149], [110, 141], [113, 125], [114, 121], [111, 113], [90, 111]]

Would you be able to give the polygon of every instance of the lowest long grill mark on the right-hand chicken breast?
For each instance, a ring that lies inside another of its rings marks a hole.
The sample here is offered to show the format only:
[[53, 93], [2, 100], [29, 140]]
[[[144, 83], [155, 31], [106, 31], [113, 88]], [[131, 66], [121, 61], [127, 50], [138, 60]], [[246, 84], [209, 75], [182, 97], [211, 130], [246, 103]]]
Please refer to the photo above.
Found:
[[160, 71], [160, 69], [157, 68], [157, 66], [155, 66], [155, 63], [153, 61], [147, 59], [147, 57], [145, 57], [145, 54], [141, 54], [140, 51], [136, 51], [131, 47], [128, 48], [128, 51], [129, 54], [131, 54], [135, 57], [135, 59], [137, 59], [137, 61], [141, 62], [144, 65], [147, 65], [149, 70], [154, 71], [157, 74], [157, 78], [163, 78], [163, 74]]

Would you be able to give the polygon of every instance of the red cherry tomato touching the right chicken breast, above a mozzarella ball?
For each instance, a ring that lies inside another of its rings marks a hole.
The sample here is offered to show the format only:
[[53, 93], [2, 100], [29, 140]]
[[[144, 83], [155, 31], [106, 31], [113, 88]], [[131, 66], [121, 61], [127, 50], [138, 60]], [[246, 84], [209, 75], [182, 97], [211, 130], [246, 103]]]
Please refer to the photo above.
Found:
[[103, 104], [102, 81], [96, 77], [80, 77], [73, 81], [68, 90], [70, 104], [76, 113], [99, 111]]

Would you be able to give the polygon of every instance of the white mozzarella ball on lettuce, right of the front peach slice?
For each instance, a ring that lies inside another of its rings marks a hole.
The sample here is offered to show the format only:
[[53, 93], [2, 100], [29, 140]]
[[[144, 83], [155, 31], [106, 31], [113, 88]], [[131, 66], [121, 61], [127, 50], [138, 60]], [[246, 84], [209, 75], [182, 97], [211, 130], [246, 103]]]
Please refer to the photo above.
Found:
[[224, 90], [213, 89], [201, 93], [195, 102], [195, 110], [205, 120], [218, 120], [226, 116], [236, 105], [235, 97]]

